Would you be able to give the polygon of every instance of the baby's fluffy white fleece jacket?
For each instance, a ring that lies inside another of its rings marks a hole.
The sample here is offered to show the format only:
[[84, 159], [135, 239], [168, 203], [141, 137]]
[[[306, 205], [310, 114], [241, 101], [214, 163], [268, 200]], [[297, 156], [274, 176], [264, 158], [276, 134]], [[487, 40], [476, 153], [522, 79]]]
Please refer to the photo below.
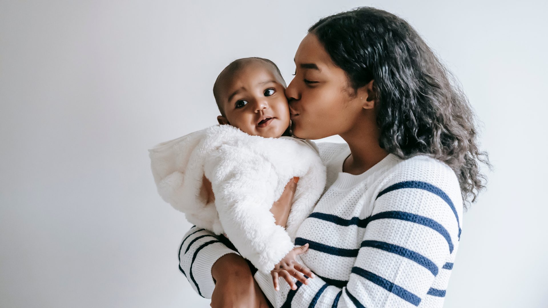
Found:
[[[296, 230], [326, 184], [326, 168], [313, 147], [296, 138], [262, 138], [222, 125], [163, 142], [149, 152], [164, 201], [190, 223], [226, 233], [244, 258], [269, 272], [293, 249]], [[204, 175], [212, 183], [213, 202], [208, 203]], [[299, 185], [284, 230], [270, 208], [294, 176]]]

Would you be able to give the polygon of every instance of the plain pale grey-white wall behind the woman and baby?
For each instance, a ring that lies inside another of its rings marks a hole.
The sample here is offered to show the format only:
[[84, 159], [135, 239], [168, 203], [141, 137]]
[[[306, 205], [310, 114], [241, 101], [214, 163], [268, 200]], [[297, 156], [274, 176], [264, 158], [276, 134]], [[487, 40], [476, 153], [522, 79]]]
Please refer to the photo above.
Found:
[[495, 170], [445, 307], [547, 307], [548, 5], [399, 0], [0, 1], [0, 306], [207, 307], [146, 150], [215, 124], [230, 61], [269, 58], [289, 83], [307, 28], [361, 5], [408, 20], [484, 123]]

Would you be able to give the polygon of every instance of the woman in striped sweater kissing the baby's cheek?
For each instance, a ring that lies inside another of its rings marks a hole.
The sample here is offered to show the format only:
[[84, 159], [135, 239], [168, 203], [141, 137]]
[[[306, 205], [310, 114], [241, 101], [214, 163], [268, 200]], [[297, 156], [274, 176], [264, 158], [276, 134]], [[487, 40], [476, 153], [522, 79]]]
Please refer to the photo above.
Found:
[[181, 271], [212, 307], [266, 307], [258, 284], [274, 306], [441, 307], [462, 209], [484, 187], [478, 162], [488, 164], [465, 95], [406, 21], [374, 8], [319, 20], [295, 65], [295, 136], [347, 142], [318, 144], [326, 192], [295, 241], [310, 245], [301, 259], [316, 277], [275, 292], [196, 227]]

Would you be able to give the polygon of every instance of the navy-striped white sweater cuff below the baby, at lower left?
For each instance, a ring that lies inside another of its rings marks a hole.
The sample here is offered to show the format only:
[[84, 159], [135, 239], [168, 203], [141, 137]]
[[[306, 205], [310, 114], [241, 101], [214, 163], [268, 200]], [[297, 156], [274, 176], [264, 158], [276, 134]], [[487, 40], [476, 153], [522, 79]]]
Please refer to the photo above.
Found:
[[179, 270], [192, 288], [203, 298], [211, 298], [215, 283], [211, 268], [225, 254], [235, 253], [221, 243], [214, 233], [193, 226], [179, 247]]

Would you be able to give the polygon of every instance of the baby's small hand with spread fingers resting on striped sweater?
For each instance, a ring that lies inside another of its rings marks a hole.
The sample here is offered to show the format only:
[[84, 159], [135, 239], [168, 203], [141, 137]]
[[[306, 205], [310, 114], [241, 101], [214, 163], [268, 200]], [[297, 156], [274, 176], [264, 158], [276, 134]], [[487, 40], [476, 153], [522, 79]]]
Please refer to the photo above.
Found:
[[272, 280], [274, 281], [274, 288], [276, 291], [279, 290], [278, 277], [283, 277], [292, 290], [297, 289], [297, 286], [291, 279], [292, 276], [304, 284], [309, 284], [309, 281], [302, 274], [309, 276], [310, 278], [314, 278], [314, 273], [310, 271], [308, 267], [300, 265], [297, 261], [295, 261], [295, 256], [305, 253], [306, 250], [308, 250], [308, 247], [309, 244], [304, 244], [304, 246], [293, 248], [293, 250], [283, 257], [282, 261], [279, 261], [279, 263], [274, 266], [274, 269], [270, 272], [270, 274], [272, 275]]

